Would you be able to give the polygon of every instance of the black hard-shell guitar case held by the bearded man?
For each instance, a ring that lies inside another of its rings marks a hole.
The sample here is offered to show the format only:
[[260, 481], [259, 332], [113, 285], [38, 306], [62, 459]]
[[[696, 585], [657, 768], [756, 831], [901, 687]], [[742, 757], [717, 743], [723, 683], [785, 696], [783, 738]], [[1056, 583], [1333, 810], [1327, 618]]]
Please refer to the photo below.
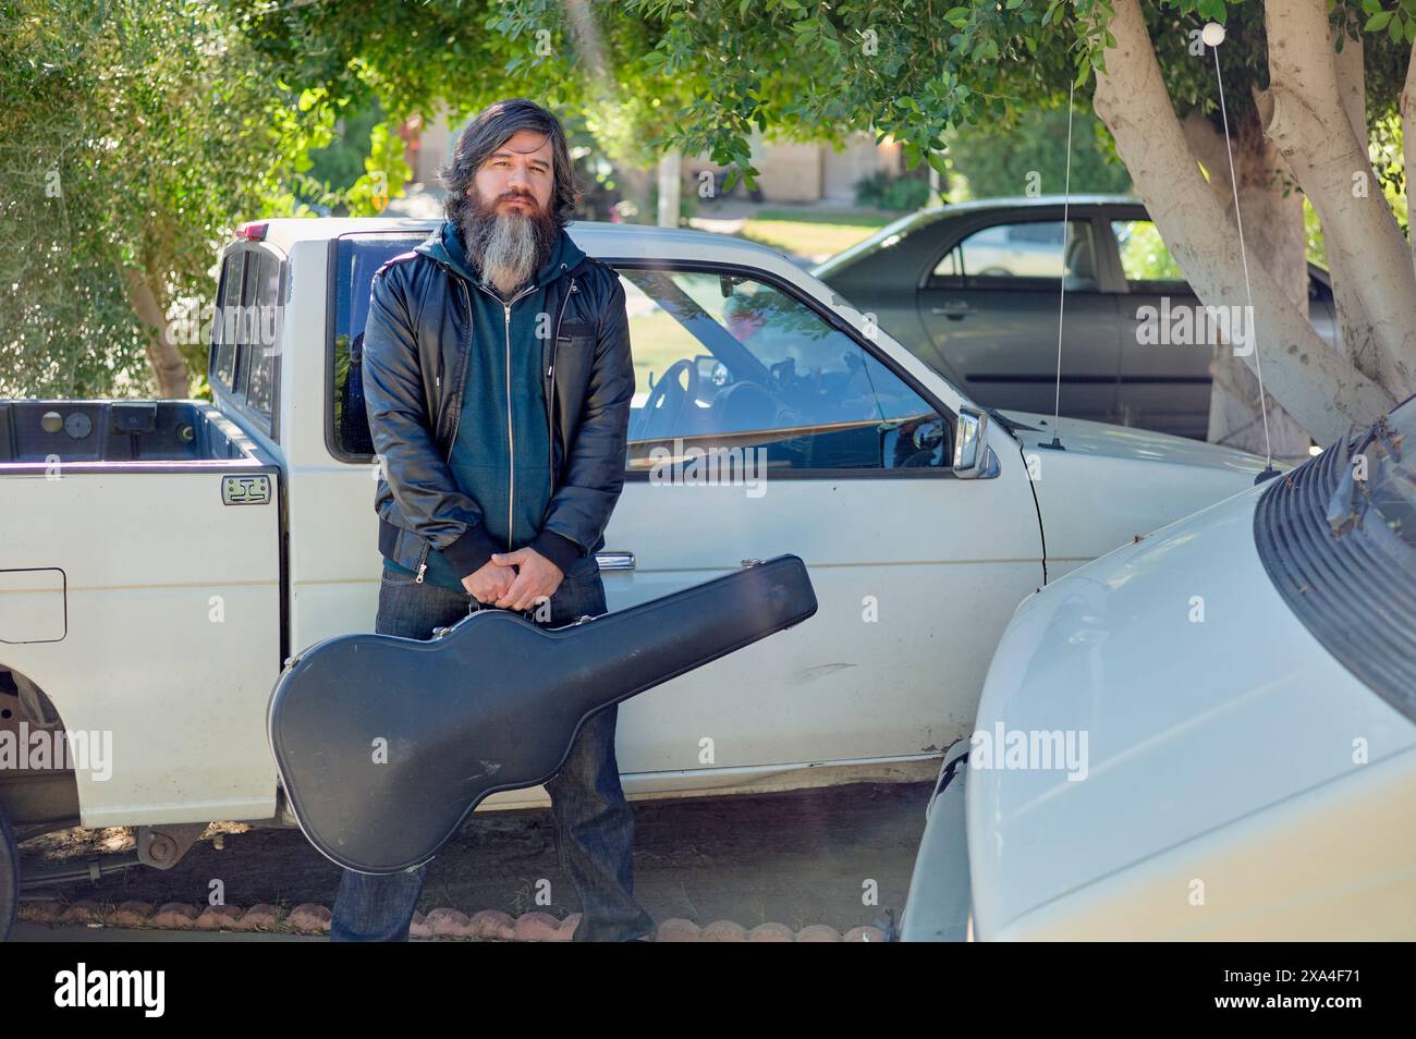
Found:
[[784, 555], [561, 628], [481, 610], [428, 641], [326, 638], [280, 672], [270, 750], [310, 844], [396, 873], [432, 859], [487, 794], [552, 779], [596, 711], [813, 613], [806, 565]]

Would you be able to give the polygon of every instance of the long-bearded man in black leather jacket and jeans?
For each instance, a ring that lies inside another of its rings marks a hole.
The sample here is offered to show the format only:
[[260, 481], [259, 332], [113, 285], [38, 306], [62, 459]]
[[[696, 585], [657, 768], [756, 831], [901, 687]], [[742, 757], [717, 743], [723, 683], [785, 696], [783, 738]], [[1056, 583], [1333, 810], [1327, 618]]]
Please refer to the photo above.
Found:
[[[375, 630], [430, 638], [477, 609], [551, 627], [605, 613], [595, 553], [624, 481], [634, 392], [624, 287], [565, 231], [569, 149], [539, 105], [483, 109], [442, 178], [446, 219], [375, 273], [364, 333], [381, 460]], [[484, 674], [508, 667], [489, 660]], [[575, 941], [654, 930], [633, 895], [616, 718], [616, 706], [592, 715], [547, 783], [581, 902]], [[426, 869], [344, 871], [331, 940], [405, 941]]]

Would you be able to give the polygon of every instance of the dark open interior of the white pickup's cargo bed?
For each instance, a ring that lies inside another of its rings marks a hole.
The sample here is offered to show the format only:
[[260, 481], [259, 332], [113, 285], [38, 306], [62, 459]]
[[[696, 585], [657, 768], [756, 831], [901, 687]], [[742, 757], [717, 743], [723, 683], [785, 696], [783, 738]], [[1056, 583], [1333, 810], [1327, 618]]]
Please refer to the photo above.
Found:
[[0, 464], [255, 460], [205, 401], [0, 401]]

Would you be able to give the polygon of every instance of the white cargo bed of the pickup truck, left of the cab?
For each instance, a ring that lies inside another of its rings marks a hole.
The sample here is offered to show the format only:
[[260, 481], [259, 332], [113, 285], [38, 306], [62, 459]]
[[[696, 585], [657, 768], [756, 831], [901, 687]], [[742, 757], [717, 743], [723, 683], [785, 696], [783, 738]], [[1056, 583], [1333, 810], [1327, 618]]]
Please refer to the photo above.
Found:
[[0, 401], [0, 671], [109, 746], [82, 825], [275, 815], [280, 477], [202, 401]]

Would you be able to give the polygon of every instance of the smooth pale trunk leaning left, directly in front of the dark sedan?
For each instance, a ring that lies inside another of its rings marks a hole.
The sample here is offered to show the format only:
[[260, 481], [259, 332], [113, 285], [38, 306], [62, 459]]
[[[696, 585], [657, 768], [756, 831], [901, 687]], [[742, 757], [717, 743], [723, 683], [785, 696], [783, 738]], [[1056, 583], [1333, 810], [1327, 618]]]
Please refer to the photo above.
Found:
[[[1246, 306], [1238, 229], [1185, 143], [1137, 0], [1114, 0], [1107, 28], [1116, 45], [1096, 78], [1096, 112], [1199, 299]], [[1242, 360], [1250, 368], [1262, 360], [1267, 391], [1308, 433], [1331, 443], [1391, 409], [1392, 395], [1323, 343], [1264, 265], [1250, 263], [1249, 276], [1255, 350]]]

